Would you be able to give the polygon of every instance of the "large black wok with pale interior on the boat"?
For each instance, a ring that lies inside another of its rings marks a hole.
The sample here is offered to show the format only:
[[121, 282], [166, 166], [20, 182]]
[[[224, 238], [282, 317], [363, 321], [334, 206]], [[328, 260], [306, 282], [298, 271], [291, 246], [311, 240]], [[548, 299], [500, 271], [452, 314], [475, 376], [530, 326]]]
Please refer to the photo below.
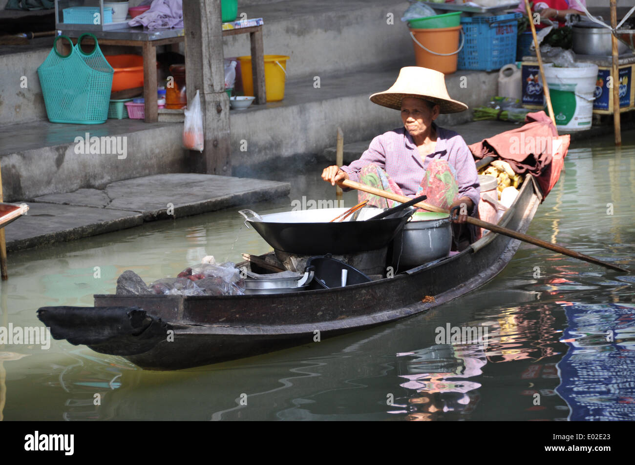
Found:
[[[386, 246], [403, 228], [411, 212], [397, 218], [371, 219], [382, 209], [364, 207], [356, 221], [349, 216], [342, 223], [331, 219], [347, 208], [287, 211], [260, 216], [251, 210], [239, 211], [244, 224], [252, 226], [271, 247], [290, 254], [351, 254]], [[368, 221], [364, 221], [368, 220]]]

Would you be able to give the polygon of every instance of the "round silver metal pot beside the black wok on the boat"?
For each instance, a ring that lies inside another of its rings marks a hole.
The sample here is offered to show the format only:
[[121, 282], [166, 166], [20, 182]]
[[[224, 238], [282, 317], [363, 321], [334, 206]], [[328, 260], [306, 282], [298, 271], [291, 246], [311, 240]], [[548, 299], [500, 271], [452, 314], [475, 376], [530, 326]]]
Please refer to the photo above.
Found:
[[407, 270], [448, 256], [452, 247], [452, 225], [447, 213], [413, 214], [394, 240], [393, 265]]

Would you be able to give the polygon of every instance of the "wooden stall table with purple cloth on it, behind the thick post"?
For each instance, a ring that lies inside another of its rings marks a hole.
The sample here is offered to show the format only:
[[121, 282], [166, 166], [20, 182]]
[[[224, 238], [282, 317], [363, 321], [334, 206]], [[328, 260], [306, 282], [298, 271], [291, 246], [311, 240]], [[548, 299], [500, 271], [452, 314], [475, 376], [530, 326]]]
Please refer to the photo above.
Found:
[[[77, 30], [60, 29], [64, 36], [74, 39], [83, 32]], [[223, 31], [223, 36], [233, 36], [234, 34], [250, 34], [251, 41], [251, 62], [253, 82], [255, 82], [254, 103], [266, 103], [265, 95], [265, 58], [262, 43], [262, 25], [253, 27], [243, 27], [240, 29], [227, 29]], [[145, 122], [159, 121], [157, 108], [157, 73], [156, 73], [156, 47], [170, 44], [178, 44], [185, 41], [184, 29], [162, 29], [147, 30], [142, 27], [128, 27], [126, 29], [91, 31], [100, 45], [118, 45], [127, 47], [141, 47], [144, 57], [144, 100], [145, 100]], [[90, 37], [85, 37], [82, 43], [92, 44]], [[187, 50], [185, 51], [187, 53]], [[187, 79], [187, 78], [186, 78]]]

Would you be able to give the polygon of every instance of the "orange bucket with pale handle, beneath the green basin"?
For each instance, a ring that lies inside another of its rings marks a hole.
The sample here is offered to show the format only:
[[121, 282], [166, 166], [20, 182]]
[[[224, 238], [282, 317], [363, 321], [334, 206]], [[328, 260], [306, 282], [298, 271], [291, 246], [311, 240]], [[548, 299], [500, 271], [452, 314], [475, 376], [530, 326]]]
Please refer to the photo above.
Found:
[[[462, 26], [439, 29], [410, 29], [417, 66], [451, 74], [457, 70], [458, 52], [465, 36]], [[459, 45], [458, 39], [462, 39]]]

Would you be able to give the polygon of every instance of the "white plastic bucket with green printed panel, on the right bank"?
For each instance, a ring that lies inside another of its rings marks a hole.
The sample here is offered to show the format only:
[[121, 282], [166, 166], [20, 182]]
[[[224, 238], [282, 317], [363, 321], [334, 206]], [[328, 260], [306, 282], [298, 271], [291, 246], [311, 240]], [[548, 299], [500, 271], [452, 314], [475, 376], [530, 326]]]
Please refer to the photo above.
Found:
[[558, 129], [584, 131], [591, 128], [593, 93], [598, 81], [598, 65], [575, 63], [574, 68], [558, 68], [545, 64], [551, 105]]

